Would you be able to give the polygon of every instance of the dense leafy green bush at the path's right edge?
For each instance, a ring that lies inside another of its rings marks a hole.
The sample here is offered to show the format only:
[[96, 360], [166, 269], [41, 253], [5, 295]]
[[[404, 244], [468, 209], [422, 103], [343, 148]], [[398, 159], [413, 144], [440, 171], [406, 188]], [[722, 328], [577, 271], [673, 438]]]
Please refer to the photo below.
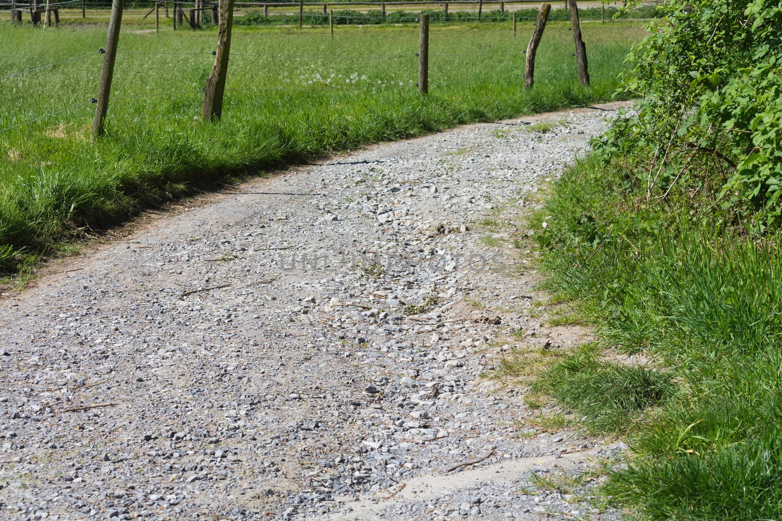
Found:
[[637, 113], [597, 148], [630, 162], [650, 204], [689, 198], [755, 232], [780, 228], [782, 2], [672, 0], [658, 9], [622, 87], [641, 98]]

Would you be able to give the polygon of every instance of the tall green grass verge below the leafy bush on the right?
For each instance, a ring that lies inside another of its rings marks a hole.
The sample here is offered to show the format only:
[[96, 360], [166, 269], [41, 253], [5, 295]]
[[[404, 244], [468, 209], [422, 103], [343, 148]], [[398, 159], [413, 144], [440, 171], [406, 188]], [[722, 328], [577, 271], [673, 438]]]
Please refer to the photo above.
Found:
[[615, 505], [641, 519], [779, 519], [780, 235], [726, 219], [700, 179], [657, 201], [646, 180], [593, 155], [537, 216], [543, 287], [578, 299], [602, 338], [538, 385], [587, 426], [626, 433], [633, 458], [604, 489]]

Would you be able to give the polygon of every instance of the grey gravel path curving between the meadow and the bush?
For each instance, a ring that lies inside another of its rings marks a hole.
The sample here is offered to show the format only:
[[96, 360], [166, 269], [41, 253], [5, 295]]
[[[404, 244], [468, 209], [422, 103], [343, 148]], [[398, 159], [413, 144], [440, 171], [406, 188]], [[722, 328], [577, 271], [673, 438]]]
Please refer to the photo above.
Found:
[[615, 106], [252, 180], [6, 294], [0, 518], [589, 517], [535, 476], [621, 447], [480, 375], [583, 340], [510, 239]]

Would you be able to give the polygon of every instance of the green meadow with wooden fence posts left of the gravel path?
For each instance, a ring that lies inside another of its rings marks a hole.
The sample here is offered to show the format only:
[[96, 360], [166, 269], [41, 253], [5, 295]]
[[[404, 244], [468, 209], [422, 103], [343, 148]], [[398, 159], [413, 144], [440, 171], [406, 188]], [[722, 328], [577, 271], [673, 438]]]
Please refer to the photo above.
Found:
[[[583, 27], [591, 87], [576, 81], [572, 33], [551, 23], [524, 91], [532, 23], [439, 24], [430, 95], [416, 88], [418, 27], [235, 27], [220, 123], [200, 121], [217, 33], [126, 29], [107, 136], [91, 142], [105, 27], [0, 25], [0, 266], [19, 269], [84, 230], [199, 187], [476, 120], [607, 100], [642, 23]], [[90, 54], [91, 53], [91, 54]], [[37, 66], [86, 55], [30, 73]], [[63, 112], [60, 112], [63, 111]]]

